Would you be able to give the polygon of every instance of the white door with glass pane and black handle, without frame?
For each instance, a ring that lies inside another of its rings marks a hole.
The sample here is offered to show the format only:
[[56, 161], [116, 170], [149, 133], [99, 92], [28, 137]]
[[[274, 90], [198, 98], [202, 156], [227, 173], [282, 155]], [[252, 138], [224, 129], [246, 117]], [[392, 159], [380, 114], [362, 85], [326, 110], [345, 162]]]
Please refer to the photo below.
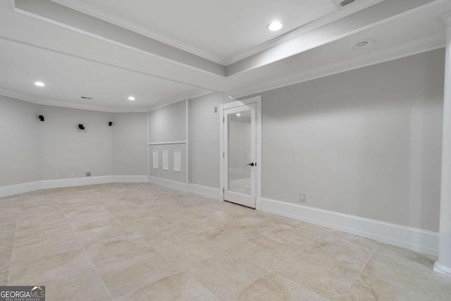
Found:
[[256, 104], [223, 112], [224, 200], [255, 208], [257, 199]]

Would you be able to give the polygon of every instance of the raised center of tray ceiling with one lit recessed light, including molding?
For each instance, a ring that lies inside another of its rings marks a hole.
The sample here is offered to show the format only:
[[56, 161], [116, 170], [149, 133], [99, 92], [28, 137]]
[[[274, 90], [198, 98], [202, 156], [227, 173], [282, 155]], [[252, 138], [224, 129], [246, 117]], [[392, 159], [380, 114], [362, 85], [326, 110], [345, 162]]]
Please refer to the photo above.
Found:
[[[330, 0], [54, 1], [199, 54], [206, 52], [205, 57], [223, 63], [337, 11]], [[283, 23], [282, 30], [267, 30], [273, 20]]]

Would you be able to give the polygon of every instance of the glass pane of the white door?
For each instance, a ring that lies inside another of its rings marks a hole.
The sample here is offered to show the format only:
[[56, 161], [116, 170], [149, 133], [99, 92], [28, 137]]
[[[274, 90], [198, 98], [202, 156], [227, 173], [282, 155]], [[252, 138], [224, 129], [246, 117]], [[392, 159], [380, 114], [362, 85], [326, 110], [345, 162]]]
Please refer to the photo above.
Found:
[[251, 195], [251, 110], [228, 114], [228, 191]]

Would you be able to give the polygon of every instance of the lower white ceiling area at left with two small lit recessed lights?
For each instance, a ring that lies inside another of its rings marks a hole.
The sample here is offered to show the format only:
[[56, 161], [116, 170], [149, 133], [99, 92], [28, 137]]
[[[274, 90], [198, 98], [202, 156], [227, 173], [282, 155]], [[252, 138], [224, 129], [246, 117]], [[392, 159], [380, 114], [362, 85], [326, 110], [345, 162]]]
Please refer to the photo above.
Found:
[[[54, 102], [145, 108], [189, 94], [192, 86], [0, 39], [0, 87]], [[41, 80], [45, 87], [36, 87]], [[128, 97], [135, 101], [128, 101]], [[49, 99], [49, 97], [51, 97]], [[92, 99], [82, 99], [89, 97]]]

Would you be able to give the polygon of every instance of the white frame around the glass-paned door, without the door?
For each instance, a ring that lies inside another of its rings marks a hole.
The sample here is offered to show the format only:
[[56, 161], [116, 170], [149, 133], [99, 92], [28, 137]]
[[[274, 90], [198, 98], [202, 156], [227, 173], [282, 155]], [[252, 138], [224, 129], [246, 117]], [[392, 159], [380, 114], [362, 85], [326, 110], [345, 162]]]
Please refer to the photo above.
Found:
[[244, 106], [246, 104], [256, 104], [256, 118], [255, 118], [255, 130], [257, 135], [257, 166], [256, 166], [256, 196], [255, 196], [255, 209], [261, 210], [261, 95], [256, 97], [251, 97], [248, 99], [238, 100], [236, 102], [228, 102], [227, 104], [219, 105], [219, 189], [221, 190], [219, 194], [219, 200], [224, 200], [224, 189], [226, 188], [226, 183], [224, 183], [224, 110], [235, 108], [236, 106]]

